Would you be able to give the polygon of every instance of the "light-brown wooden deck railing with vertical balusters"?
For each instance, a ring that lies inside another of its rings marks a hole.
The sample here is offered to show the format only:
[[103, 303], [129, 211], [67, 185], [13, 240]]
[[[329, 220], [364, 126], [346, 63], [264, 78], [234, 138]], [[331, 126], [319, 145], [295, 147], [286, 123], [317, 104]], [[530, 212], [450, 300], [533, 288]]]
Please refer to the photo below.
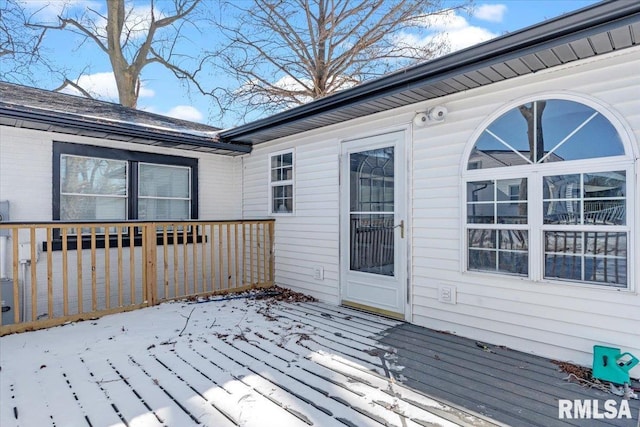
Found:
[[1, 223], [0, 335], [273, 285], [273, 220]]

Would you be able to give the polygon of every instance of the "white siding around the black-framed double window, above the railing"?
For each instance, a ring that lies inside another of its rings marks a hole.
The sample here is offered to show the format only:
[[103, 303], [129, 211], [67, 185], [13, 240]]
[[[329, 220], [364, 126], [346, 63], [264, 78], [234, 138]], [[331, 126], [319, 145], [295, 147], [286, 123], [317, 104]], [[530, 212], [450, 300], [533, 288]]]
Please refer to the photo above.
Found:
[[51, 220], [53, 141], [197, 158], [200, 219], [242, 215], [239, 158], [0, 126], [0, 200], [13, 221]]

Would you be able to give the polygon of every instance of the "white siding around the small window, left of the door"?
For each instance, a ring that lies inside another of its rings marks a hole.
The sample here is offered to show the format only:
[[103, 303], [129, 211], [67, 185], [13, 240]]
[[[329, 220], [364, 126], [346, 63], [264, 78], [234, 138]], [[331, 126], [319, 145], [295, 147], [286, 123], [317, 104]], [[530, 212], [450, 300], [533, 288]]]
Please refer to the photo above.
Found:
[[[246, 218], [269, 216], [270, 153], [291, 142], [258, 146], [244, 157]], [[294, 214], [276, 219], [276, 283], [333, 303], [338, 302], [338, 145], [335, 140], [296, 142], [294, 150]], [[314, 267], [324, 279], [313, 278]]]

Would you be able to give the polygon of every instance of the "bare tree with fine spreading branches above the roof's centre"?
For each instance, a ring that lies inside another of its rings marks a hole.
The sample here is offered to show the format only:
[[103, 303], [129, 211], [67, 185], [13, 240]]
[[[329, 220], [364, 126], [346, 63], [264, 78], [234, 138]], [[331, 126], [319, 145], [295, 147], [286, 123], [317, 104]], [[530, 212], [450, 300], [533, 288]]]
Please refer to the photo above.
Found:
[[436, 15], [469, 5], [466, 0], [447, 3], [446, 9], [441, 0], [230, 1], [221, 15], [225, 22], [219, 23], [228, 43], [211, 55], [237, 84], [225, 105], [244, 114], [271, 113], [432, 58], [446, 46], [416, 43], [411, 34], [425, 30]]

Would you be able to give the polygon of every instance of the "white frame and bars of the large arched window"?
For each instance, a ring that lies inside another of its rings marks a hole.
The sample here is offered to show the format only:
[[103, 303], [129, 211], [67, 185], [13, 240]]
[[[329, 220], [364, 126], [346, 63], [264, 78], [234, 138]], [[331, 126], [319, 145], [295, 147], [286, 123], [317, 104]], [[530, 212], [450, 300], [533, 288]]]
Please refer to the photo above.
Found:
[[[500, 118], [508, 111], [517, 108], [520, 105], [543, 100], [567, 100], [584, 104], [605, 117], [611, 125], [616, 129], [618, 135], [622, 141], [624, 148], [623, 155], [599, 157], [593, 159], [582, 160], [568, 160], [561, 162], [550, 162], [542, 164], [524, 164], [517, 166], [505, 166], [497, 168], [487, 169], [471, 169], [469, 170], [468, 162], [472, 150], [478, 141], [482, 133], [487, 129], [495, 120]], [[489, 275], [489, 276], [506, 276], [516, 279], [529, 280], [534, 282], [555, 283], [572, 286], [584, 286], [597, 289], [612, 289], [612, 290], [627, 290], [633, 291], [635, 276], [638, 274], [637, 267], [634, 260], [636, 259], [636, 238], [638, 233], [635, 231], [635, 223], [638, 218], [637, 208], [637, 195], [639, 192], [637, 177], [636, 177], [636, 159], [638, 158], [637, 148], [633, 144], [633, 133], [625, 124], [624, 119], [619, 116], [613, 108], [605, 105], [598, 100], [590, 97], [586, 97], [581, 94], [575, 94], [570, 92], [562, 93], [544, 93], [534, 96], [527, 96], [515, 99], [500, 109], [495, 111], [489, 117], [487, 117], [480, 126], [472, 134], [467, 143], [467, 147], [463, 153], [460, 176], [461, 180], [461, 270], [464, 273]], [[598, 173], [598, 172], [610, 172], [610, 171], [622, 171], [626, 173], [626, 223], [624, 225], [555, 225], [545, 224], [543, 220], [543, 177], [555, 176], [555, 175], [568, 175], [568, 174], [585, 174], [585, 173]], [[467, 221], [468, 215], [468, 200], [467, 200], [467, 184], [471, 182], [477, 182], [482, 180], [514, 180], [514, 179], [527, 179], [527, 223], [526, 224], [492, 224], [492, 225], [477, 225], [470, 224]], [[495, 271], [475, 270], [470, 269], [469, 266], [469, 230], [476, 228], [486, 229], [513, 229], [528, 233], [528, 247], [526, 253], [528, 255], [527, 260], [527, 272], [526, 274], [518, 275], [513, 273], [500, 272], [498, 269]], [[605, 283], [595, 283], [588, 281], [569, 280], [569, 279], [557, 279], [557, 278], [545, 278], [544, 272], [544, 259], [545, 259], [545, 232], [548, 231], [608, 231], [608, 232], [621, 232], [626, 233], [626, 262], [627, 262], [627, 278], [626, 285], [612, 286]]]

